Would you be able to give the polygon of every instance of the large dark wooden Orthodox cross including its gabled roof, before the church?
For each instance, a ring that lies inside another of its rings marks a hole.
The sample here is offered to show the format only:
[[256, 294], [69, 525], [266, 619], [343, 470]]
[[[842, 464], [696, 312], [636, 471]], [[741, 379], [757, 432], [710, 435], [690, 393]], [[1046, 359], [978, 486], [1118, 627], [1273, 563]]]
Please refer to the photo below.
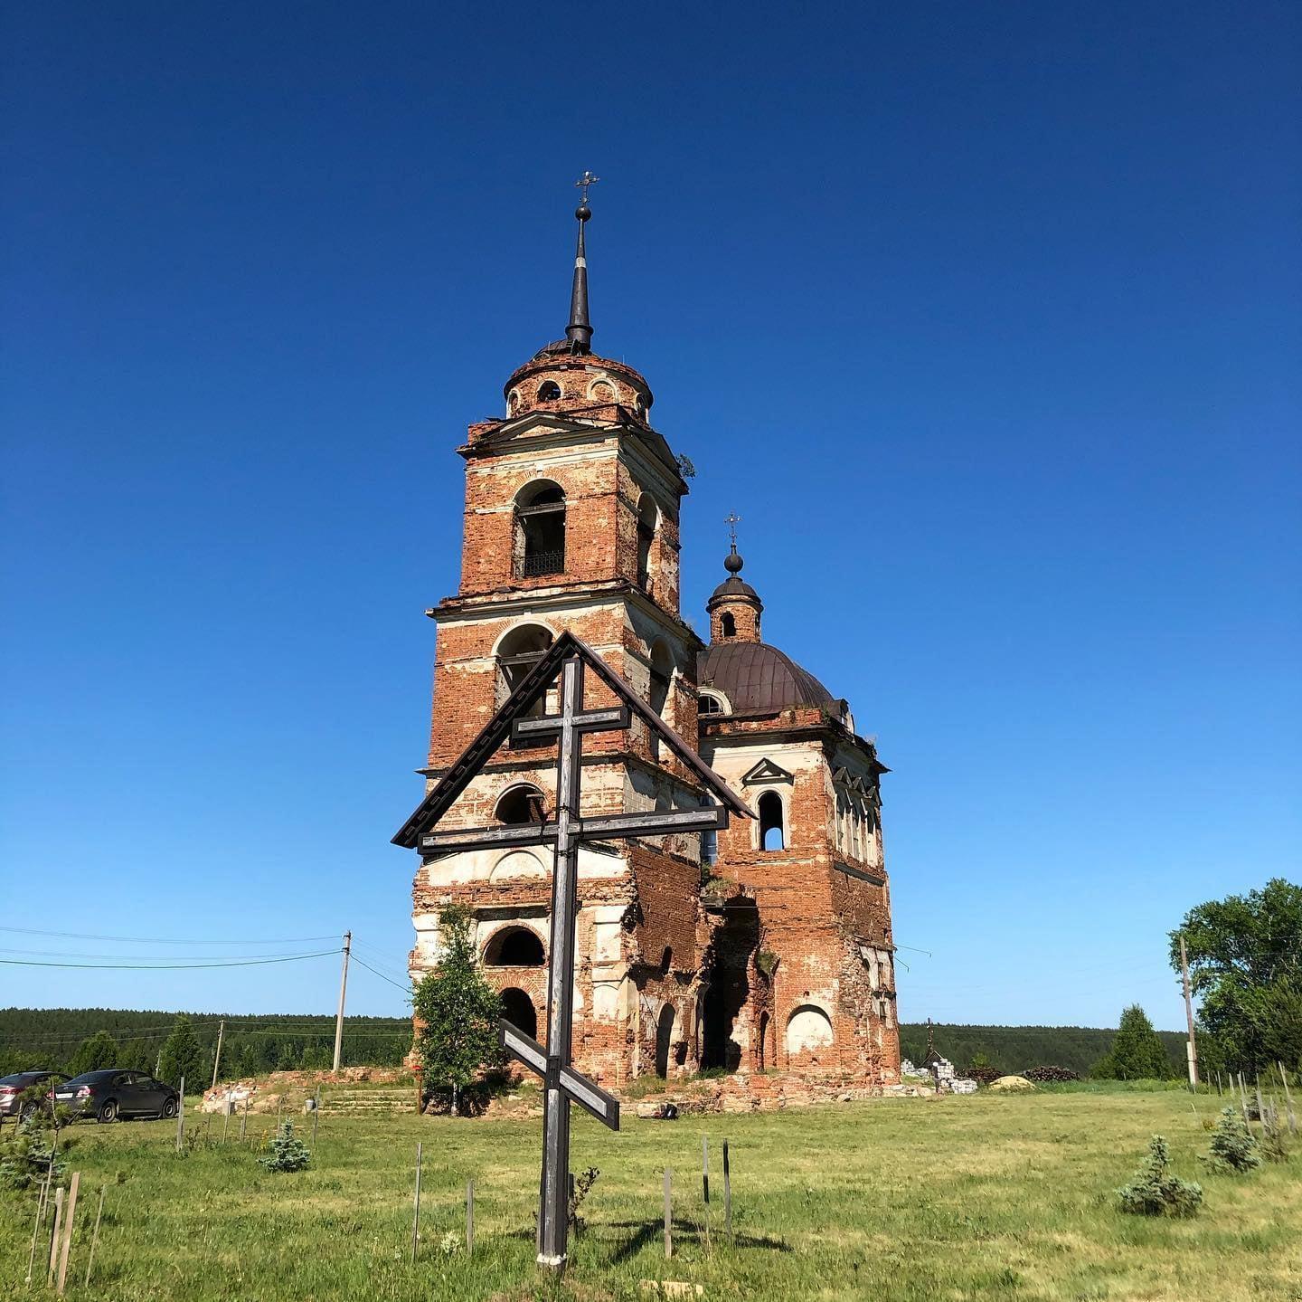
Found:
[[[585, 666], [615, 693], [618, 705], [585, 710]], [[530, 709], [560, 678], [560, 713], [531, 717]], [[609, 732], [629, 727], [633, 714], [658, 732], [674, 755], [720, 804], [668, 813], [620, 813], [585, 817], [582, 812], [582, 749], [585, 732]], [[465, 790], [470, 779], [506, 739], [514, 745], [557, 743], [556, 808], [542, 822], [516, 826], [430, 832]], [[450, 794], [449, 794], [450, 792]], [[393, 839], [417, 846], [422, 855], [456, 854], [462, 850], [506, 850], [551, 845], [552, 921], [547, 971], [547, 1044], [540, 1045], [505, 1018], [503, 1048], [543, 1078], [543, 1170], [539, 1189], [538, 1260], [561, 1269], [565, 1266], [569, 1232], [569, 1122], [570, 1103], [577, 1103], [612, 1130], [620, 1129], [620, 1103], [572, 1065], [574, 1020], [574, 931], [577, 923], [578, 851], [586, 841], [624, 837], [654, 837], [673, 832], [713, 832], [728, 826], [728, 811], [750, 816], [751, 811], [660, 717], [651, 710], [599, 656], [570, 633], [561, 636], [526, 675], [488, 726], [426, 796], [421, 808]]]

